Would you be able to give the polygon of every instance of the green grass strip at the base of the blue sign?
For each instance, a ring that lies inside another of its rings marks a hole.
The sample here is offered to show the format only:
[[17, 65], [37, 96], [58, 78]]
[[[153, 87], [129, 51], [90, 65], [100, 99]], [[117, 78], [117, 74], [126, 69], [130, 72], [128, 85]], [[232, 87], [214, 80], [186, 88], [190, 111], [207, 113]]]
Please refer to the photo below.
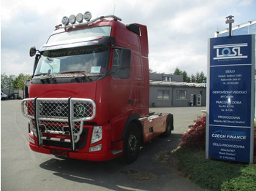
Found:
[[198, 187], [208, 190], [256, 190], [256, 165], [206, 160], [203, 149], [182, 147], [174, 152], [178, 169]]

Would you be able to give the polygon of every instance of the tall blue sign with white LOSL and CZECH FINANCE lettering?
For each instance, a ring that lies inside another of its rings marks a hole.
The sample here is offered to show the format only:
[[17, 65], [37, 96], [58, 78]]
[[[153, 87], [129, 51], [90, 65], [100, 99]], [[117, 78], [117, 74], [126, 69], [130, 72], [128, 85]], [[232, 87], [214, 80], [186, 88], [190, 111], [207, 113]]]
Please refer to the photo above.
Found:
[[206, 158], [253, 163], [255, 35], [208, 41]]

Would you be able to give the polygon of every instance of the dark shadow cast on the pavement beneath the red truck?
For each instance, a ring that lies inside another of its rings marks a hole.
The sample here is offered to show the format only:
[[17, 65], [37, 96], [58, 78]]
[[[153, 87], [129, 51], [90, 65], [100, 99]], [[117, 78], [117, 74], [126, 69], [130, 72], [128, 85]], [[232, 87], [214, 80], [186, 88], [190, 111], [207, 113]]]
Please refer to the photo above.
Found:
[[121, 157], [106, 162], [53, 158], [40, 167], [71, 182], [93, 184], [110, 190], [161, 190], [167, 178], [175, 173], [166, 165], [170, 163], [169, 154], [178, 146], [181, 136], [159, 136], [148, 142], [132, 164], [123, 163]]

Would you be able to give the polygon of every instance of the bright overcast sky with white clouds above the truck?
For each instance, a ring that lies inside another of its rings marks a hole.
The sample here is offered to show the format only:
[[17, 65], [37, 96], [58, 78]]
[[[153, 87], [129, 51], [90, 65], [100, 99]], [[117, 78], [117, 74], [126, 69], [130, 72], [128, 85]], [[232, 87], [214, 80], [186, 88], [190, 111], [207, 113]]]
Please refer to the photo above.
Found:
[[228, 28], [228, 15], [238, 25], [255, 20], [255, 9], [255, 0], [1, 0], [1, 74], [32, 74], [30, 47], [45, 44], [65, 15], [86, 11], [146, 25], [153, 71], [206, 74], [208, 39]]

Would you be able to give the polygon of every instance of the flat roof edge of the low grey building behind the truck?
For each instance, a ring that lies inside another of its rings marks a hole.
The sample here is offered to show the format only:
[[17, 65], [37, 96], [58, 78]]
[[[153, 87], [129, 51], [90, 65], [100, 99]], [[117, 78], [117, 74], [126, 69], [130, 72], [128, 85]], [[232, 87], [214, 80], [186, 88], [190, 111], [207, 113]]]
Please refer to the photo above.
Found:
[[172, 86], [172, 87], [206, 87], [206, 83], [165, 82], [165, 81], [152, 81], [152, 80], [149, 80], [149, 85]]

